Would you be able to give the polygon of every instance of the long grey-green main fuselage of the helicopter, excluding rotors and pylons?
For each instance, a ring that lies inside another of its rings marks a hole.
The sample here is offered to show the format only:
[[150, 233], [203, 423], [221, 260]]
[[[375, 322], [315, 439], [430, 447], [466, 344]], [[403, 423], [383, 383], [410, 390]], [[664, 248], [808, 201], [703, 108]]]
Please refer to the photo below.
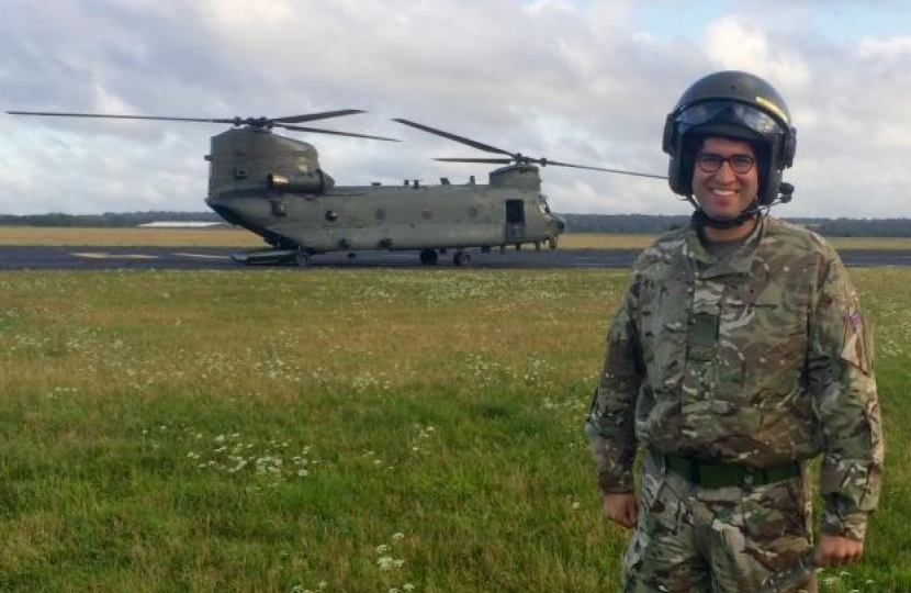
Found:
[[555, 242], [562, 231], [540, 193], [471, 182], [243, 191], [207, 203], [277, 248], [312, 254], [521, 245]]

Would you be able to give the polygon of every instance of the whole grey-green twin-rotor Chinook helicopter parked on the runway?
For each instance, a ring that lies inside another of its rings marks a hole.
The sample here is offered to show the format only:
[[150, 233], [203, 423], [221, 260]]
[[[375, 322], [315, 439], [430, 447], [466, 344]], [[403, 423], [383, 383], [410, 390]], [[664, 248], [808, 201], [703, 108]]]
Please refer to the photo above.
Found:
[[314, 128], [303, 122], [363, 113], [339, 110], [284, 118], [198, 119], [8, 111], [13, 115], [106, 118], [229, 124], [211, 138], [205, 203], [226, 222], [260, 237], [268, 247], [232, 254], [238, 264], [311, 264], [315, 255], [363, 250], [418, 251], [425, 266], [452, 251], [456, 266], [471, 262], [469, 249], [490, 253], [533, 245], [556, 248], [565, 223], [541, 194], [539, 167], [556, 166], [666, 179], [663, 176], [529, 158], [404, 119], [397, 123], [501, 155], [495, 158], [438, 158], [450, 163], [504, 165], [490, 172], [487, 184], [439, 184], [404, 181], [402, 186], [336, 186], [319, 166], [316, 148], [272, 132], [333, 134], [365, 139], [394, 138]]

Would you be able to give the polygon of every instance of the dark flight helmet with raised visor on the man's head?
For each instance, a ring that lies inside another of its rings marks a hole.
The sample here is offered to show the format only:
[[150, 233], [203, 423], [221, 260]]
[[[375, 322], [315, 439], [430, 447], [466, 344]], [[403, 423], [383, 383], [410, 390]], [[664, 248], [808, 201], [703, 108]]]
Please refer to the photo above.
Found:
[[756, 201], [769, 205], [783, 192], [781, 172], [794, 164], [797, 130], [785, 100], [772, 85], [749, 72], [726, 70], [693, 83], [664, 122], [663, 149], [671, 155], [667, 177], [674, 193], [693, 194], [696, 152], [706, 136], [750, 142], [756, 150]]

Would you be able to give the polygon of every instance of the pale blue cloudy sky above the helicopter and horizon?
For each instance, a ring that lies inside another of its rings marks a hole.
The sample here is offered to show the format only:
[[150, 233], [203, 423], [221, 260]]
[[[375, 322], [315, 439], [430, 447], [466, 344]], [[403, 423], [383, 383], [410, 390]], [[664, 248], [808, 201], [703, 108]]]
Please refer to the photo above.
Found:
[[[666, 113], [697, 78], [744, 69], [798, 131], [786, 216], [911, 217], [906, 0], [2, 1], [2, 111], [182, 118], [368, 113], [295, 134], [337, 184], [463, 182], [510, 152], [663, 175]], [[316, 124], [314, 124], [316, 125]], [[203, 211], [210, 123], [0, 113], [0, 214]], [[565, 213], [682, 214], [663, 181], [543, 170]]]

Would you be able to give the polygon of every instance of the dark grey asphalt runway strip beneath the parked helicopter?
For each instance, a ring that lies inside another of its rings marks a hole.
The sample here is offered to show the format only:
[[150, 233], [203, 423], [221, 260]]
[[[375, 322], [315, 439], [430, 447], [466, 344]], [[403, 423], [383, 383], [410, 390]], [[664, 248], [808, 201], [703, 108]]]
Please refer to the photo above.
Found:
[[[289, 268], [290, 265], [243, 266], [230, 259], [227, 248], [203, 247], [22, 247], [0, 246], [0, 270], [123, 270], [123, 269], [230, 269], [256, 270]], [[471, 268], [477, 269], [626, 269], [639, 249], [526, 249], [470, 251]], [[911, 251], [888, 249], [845, 249], [840, 251], [848, 267], [911, 266]], [[426, 268], [416, 251], [359, 251], [314, 256], [312, 268]], [[437, 268], [456, 268], [450, 255], [440, 256]]]

